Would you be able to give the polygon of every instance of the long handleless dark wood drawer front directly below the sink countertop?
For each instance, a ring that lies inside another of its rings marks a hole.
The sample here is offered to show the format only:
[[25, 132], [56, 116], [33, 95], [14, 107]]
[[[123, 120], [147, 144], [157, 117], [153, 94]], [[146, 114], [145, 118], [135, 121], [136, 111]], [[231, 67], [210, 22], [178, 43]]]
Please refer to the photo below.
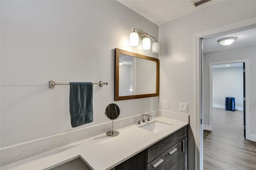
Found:
[[176, 143], [180, 142], [183, 138], [187, 136], [187, 126], [181, 128], [180, 130], [170, 134], [166, 138], [160, 140], [159, 142], [153, 144], [148, 148], [148, 160], [150, 163], [158, 156], [162, 155], [166, 150], [174, 146]]

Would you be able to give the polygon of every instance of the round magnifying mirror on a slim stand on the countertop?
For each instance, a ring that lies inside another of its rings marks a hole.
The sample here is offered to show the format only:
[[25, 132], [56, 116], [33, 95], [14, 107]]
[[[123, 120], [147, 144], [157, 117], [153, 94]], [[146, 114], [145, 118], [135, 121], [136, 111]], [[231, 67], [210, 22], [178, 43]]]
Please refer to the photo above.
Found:
[[120, 109], [115, 103], [111, 103], [106, 107], [105, 116], [112, 120], [112, 130], [106, 133], [107, 136], [117, 136], [118, 131], [114, 130], [114, 119], [117, 119], [120, 115]]

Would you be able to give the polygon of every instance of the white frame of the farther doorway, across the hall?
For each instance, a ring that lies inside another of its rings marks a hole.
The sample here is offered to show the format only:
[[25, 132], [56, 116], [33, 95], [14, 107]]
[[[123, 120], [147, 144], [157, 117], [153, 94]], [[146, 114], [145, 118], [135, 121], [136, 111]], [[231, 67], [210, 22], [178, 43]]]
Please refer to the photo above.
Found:
[[[238, 59], [238, 60], [230, 60], [230, 61], [219, 61], [219, 62], [212, 62], [209, 63], [209, 129], [212, 131], [212, 65], [218, 65], [218, 64], [229, 64], [229, 63], [245, 63], [245, 89], [246, 89], [246, 97], [249, 96], [249, 59]], [[246, 99], [245, 106], [250, 105], [250, 98]], [[248, 111], [248, 114], [246, 113], [246, 119], [250, 120], [250, 112]], [[247, 125], [247, 122], [246, 122]], [[249, 124], [248, 124], [249, 125]], [[246, 129], [249, 132], [249, 127]]]

